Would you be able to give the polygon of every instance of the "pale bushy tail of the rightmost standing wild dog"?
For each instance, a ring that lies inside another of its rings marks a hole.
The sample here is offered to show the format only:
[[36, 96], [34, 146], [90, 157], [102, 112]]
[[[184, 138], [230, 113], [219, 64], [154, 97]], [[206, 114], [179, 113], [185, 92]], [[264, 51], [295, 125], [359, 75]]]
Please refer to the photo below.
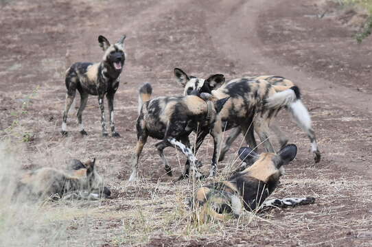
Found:
[[301, 93], [298, 86], [292, 86], [290, 89], [275, 93], [275, 95], [266, 99], [265, 106], [268, 108], [288, 107], [297, 125], [307, 134], [312, 131], [312, 119], [301, 101]]

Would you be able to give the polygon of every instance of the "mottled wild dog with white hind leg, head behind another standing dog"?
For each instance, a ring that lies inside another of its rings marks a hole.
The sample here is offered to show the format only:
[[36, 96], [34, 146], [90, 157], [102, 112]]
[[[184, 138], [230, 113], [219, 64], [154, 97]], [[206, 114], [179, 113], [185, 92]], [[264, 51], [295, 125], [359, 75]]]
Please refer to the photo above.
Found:
[[[226, 96], [232, 98], [229, 101], [231, 104], [226, 104], [220, 113], [222, 121], [224, 121], [224, 130], [235, 128], [233, 134], [226, 139], [224, 147], [221, 148], [220, 161], [240, 132], [243, 132], [246, 143], [255, 148], [257, 143], [254, 129], [261, 142], [264, 143], [266, 151], [275, 152], [268, 139], [268, 130], [271, 128], [278, 135], [281, 147], [285, 146], [288, 139], [277, 125], [270, 125], [271, 119], [277, 115], [281, 108], [288, 109], [297, 125], [307, 132], [312, 143], [314, 160], [316, 163], [320, 161], [321, 152], [318, 150], [310, 114], [301, 102], [299, 88], [294, 86], [290, 80], [279, 76], [264, 75], [235, 79], [227, 83], [224, 83], [224, 80], [211, 83], [208, 80], [189, 77], [177, 68], [174, 69], [174, 74], [178, 82], [185, 88], [184, 95], [189, 95], [191, 91], [197, 91], [198, 93], [211, 93], [218, 98]], [[198, 149], [198, 146], [196, 148]]]

